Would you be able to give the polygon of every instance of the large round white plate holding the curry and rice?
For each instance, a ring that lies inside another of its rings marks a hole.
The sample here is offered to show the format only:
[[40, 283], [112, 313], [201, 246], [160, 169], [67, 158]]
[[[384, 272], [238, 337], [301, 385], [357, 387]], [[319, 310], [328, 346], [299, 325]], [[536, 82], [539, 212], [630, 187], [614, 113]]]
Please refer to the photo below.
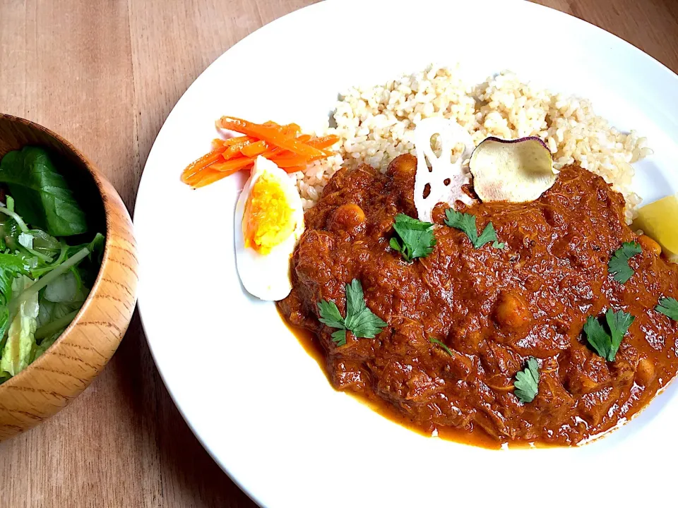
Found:
[[555, 506], [634, 497], [647, 504], [673, 489], [672, 466], [662, 464], [678, 454], [675, 384], [599, 442], [506, 452], [422, 437], [335, 392], [273, 303], [239, 284], [232, 215], [243, 179], [199, 191], [179, 181], [209, 150], [222, 114], [314, 125], [347, 85], [457, 61], [471, 80], [508, 68], [593, 99], [615, 126], [648, 136], [655, 155], [636, 165], [641, 195], [678, 190], [678, 77], [548, 8], [329, 1], [232, 47], [179, 100], [148, 157], [134, 217], [139, 301], [153, 357], [184, 418], [263, 506]]

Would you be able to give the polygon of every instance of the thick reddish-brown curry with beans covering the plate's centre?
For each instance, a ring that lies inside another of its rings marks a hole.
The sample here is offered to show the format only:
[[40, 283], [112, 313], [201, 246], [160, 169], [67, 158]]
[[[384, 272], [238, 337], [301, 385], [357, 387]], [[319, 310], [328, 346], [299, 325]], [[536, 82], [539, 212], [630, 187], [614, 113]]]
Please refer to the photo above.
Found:
[[[417, 217], [416, 159], [394, 159], [386, 174], [342, 169], [306, 212], [292, 258], [293, 289], [279, 303], [287, 321], [314, 334], [312, 349], [336, 389], [362, 397], [386, 416], [430, 434], [485, 447], [501, 443], [576, 444], [628, 419], [678, 370], [677, 322], [655, 311], [678, 295], [678, 267], [624, 222], [624, 200], [599, 176], [565, 167], [527, 203], [460, 209], [482, 230], [490, 221], [505, 248], [475, 248], [434, 210], [436, 246], [408, 263], [389, 247], [398, 212]], [[624, 242], [643, 250], [622, 284], [608, 273]], [[318, 320], [317, 303], [345, 315], [345, 284], [358, 279], [369, 309], [388, 326], [374, 339]], [[583, 334], [607, 308], [634, 316], [614, 361]], [[449, 351], [432, 344], [445, 344]], [[529, 357], [540, 363], [529, 403], [513, 383]]]

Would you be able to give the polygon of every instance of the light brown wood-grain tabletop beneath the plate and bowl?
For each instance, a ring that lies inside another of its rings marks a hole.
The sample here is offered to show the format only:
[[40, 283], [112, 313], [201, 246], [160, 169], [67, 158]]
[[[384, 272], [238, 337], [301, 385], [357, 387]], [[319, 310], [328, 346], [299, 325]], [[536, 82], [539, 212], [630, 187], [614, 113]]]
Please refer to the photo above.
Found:
[[[1, 0], [0, 111], [64, 135], [130, 210], [157, 131], [235, 42], [313, 0]], [[678, 1], [541, 0], [678, 71]], [[0, 507], [254, 507], [169, 399], [135, 317], [64, 411], [0, 444]]]

